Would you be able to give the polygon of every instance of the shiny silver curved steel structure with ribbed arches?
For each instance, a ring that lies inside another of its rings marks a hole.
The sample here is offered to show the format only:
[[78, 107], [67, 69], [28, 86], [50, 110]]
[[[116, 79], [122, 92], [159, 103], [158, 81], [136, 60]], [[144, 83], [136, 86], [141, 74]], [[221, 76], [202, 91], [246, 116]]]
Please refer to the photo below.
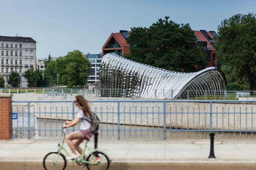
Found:
[[[113, 53], [104, 55], [101, 60], [100, 82], [103, 88], [123, 90], [113, 94], [113, 97], [125, 95], [133, 98], [155, 98], [153, 93], [148, 95], [148, 90], [164, 89], [172, 93], [164, 95], [160, 90], [157, 98], [177, 98], [185, 96], [189, 90], [205, 90], [207, 93], [215, 91], [218, 95], [227, 89], [224, 74], [215, 67], [193, 73], [173, 72], [134, 62]], [[125, 93], [125, 89], [129, 92]]]

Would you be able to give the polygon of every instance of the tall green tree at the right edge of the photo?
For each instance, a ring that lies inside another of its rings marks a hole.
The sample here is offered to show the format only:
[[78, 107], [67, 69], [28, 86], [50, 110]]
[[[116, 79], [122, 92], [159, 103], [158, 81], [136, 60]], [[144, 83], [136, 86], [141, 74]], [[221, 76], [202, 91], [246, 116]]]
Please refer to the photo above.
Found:
[[[238, 82], [247, 80], [249, 90], [256, 86], [256, 15], [236, 14], [218, 25], [217, 63], [230, 68]], [[225, 73], [225, 72], [224, 72]]]

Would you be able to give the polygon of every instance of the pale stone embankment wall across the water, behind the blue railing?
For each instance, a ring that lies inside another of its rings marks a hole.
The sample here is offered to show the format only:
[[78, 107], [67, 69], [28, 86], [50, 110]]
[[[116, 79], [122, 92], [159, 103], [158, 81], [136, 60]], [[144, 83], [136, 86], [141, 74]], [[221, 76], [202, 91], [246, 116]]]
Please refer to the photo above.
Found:
[[[141, 100], [120, 103], [120, 123], [163, 127], [163, 102], [147, 102], [148, 99], [86, 97], [91, 110], [99, 114], [101, 122], [118, 123], [117, 102], [107, 100]], [[72, 119], [72, 103], [56, 103], [54, 100], [72, 100], [73, 97], [44, 95], [14, 95], [13, 100], [53, 100], [52, 103], [30, 103], [30, 112], [40, 118]], [[210, 104], [200, 102], [168, 102], [166, 100], [165, 123], [167, 127], [209, 129]], [[26, 104], [26, 103], [13, 103]], [[77, 112], [75, 107], [75, 112]], [[55, 113], [55, 114], [49, 114]], [[213, 103], [212, 128], [223, 130], [251, 130], [256, 128], [256, 103]], [[74, 115], [75, 117], [76, 115]], [[254, 123], [255, 122], [255, 123]]]

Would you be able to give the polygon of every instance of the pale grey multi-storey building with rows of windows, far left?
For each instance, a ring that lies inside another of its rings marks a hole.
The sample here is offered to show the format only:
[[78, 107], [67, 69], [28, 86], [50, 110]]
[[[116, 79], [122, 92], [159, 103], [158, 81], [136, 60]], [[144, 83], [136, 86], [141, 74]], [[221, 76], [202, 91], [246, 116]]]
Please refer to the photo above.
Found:
[[5, 85], [12, 72], [20, 73], [21, 87], [27, 87], [24, 73], [29, 68], [35, 68], [36, 41], [30, 37], [0, 36], [1, 67], [0, 76], [5, 79]]

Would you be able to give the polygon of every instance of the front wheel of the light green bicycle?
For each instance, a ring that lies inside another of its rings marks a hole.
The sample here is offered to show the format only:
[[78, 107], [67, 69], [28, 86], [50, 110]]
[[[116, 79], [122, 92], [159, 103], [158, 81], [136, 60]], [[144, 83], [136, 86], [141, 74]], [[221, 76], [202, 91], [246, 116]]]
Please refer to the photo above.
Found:
[[45, 170], [64, 170], [66, 165], [66, 158], [62, 154], [58, 156], [58, 152], [48, 153], [45, 155], [43, 160], [43, 166]]

